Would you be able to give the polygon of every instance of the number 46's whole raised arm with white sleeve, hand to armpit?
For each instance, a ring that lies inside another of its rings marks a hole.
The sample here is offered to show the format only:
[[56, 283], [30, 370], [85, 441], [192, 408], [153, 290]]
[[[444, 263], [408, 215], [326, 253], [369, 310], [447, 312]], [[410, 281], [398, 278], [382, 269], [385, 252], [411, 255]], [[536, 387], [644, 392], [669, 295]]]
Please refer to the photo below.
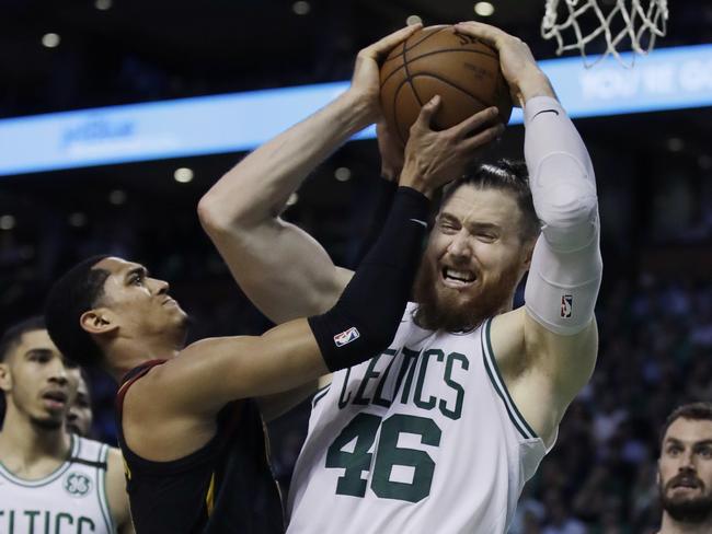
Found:
[[492, 343], [497, 359], [516, 355], [530, 362], [512, 390], [518, 391], [517, 404], [535, 430], [552, 439], [566, 407], [590, 378], [598, 350], [594, 307], [602, 263], [594, 169], [527, 45], [485, 24], [458, 28], [498, 49], [503, 74], [524, 106], [525, 158], [542, 230], [533, 247], [526, 304], [493, 322]]

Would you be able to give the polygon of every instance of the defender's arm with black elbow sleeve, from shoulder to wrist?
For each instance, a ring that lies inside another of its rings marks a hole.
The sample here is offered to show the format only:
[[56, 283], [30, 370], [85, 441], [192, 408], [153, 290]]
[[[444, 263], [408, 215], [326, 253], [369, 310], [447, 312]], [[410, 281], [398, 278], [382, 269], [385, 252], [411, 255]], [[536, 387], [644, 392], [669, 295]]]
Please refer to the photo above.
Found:
[[[260, 337], [198, 341], [128, 390], [129, 446], [153, 460], [190, 453], [214, 432], [228, 402], [294, 388], [384, 349], [400, 324], [425, 236], [430, 189], [400, 187], [383, 232], [326, 313], [277, 326]], [[157, 394], [160, 392], [160, 394]], [[150, 436], [138, 429], [149, 425]], [[140, 437], [140, 438], [137, 438]]]

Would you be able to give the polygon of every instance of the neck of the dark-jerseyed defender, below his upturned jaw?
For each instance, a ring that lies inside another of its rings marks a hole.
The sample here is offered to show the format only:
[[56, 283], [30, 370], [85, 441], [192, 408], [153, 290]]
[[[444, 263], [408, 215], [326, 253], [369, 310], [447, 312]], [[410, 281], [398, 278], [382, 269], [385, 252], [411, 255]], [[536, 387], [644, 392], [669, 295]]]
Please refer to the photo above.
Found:
[[183, 341], [166, 338], [117, 338], [105, 348], [108, 372], [116, 382], [131, 369], [150, 360], [170, 360], [179, 355]]

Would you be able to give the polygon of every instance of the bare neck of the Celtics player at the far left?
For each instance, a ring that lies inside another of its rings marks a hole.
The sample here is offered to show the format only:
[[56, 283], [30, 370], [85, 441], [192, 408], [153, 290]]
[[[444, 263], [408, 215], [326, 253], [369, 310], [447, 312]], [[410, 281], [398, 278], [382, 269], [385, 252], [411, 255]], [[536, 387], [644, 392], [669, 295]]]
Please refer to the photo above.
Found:
[[69, 455], [71, 437], [62, 425], [56, 429], [42, 428], [8, 403], [3, 430], [0, 432], [0, 458], [13, 471], [26, 472], [42, 460], [65, 461]]

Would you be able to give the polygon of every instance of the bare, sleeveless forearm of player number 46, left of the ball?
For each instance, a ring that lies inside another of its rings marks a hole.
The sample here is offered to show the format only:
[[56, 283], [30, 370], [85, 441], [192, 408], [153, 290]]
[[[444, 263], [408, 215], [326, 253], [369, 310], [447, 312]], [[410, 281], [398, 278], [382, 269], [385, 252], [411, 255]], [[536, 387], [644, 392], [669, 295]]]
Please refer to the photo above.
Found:
[[204, 225], [250, 227], [276, 217], [309, 173], [371, 120], [370, 112], [347, 91], [222, 176], [198, 206]]

